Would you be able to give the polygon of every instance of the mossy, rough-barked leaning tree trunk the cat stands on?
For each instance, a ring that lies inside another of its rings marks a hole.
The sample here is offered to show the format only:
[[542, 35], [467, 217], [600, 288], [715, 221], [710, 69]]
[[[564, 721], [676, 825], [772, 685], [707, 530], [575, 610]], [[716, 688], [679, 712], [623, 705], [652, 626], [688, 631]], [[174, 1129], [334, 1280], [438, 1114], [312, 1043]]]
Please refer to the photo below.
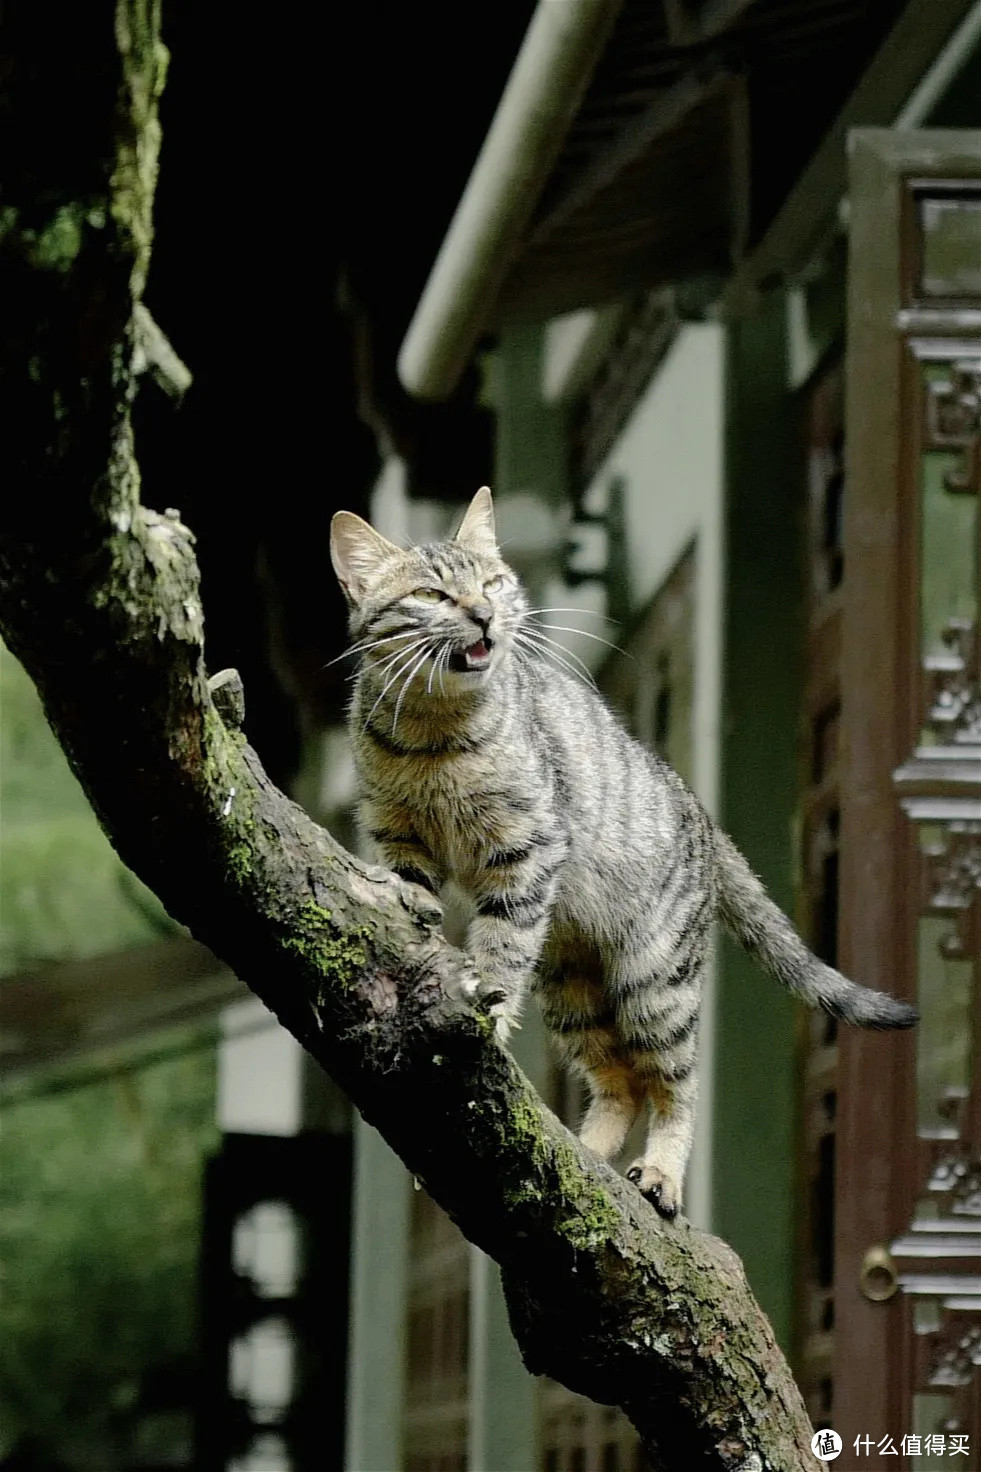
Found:
[[68, 37], [44, 10], [15, 0], [6, 41], [0, 626], [103, 827], [496, 1259], [529, 1369], [622, 1406], [658, 1469], [813, 1469], [735, 1254], [579, 1145], [461, 999], [432, 899], [277, 792], [212, 698], [193, 536], [140, 503], [130, 420], [159, 3], [57, 7]]

